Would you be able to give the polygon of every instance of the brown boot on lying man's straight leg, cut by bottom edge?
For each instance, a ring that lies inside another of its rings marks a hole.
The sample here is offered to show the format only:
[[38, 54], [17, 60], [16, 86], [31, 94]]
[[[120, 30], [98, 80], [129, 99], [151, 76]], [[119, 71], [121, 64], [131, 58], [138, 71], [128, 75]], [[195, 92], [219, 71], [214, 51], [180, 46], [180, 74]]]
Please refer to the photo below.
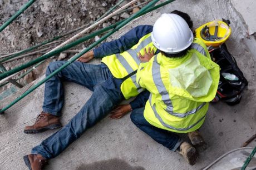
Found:
[[43, 166], [47, 164], [47, 160], [40, 154], [27, 154], [23, 159], [29, 170], [42, 170]]

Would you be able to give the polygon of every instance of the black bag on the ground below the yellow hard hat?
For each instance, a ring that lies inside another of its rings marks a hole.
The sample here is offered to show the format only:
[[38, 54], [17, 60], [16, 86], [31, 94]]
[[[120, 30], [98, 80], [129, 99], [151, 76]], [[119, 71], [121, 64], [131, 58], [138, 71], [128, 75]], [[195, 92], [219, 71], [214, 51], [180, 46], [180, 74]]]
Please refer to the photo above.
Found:
[[220, 81], [213, 102], [222, 101], [233, 106], [240, 103], [241, 93], [248, 85], [243, 72], [237, 66], [237, 61], [228, 52], [227, 46], [209, 49], [211, 59], [220, 66]]

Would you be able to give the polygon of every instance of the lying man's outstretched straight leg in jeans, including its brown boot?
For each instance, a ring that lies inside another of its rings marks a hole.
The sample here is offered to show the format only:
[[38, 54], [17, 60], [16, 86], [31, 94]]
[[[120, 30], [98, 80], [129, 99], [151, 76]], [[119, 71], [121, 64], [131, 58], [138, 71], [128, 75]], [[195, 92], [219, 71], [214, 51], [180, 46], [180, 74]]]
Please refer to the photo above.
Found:
[[24, 156], [24, 161], [29, 168], [41, 168], [47, 159], [58, 156], [86, 129], [99, 122], [124, 99], [120, 89], [110, 88], [112, 87], [111, 83], [110, 78], [105, 83], [97, 85], [85, 106], [66, 126], [34, 147], [32, 154]]

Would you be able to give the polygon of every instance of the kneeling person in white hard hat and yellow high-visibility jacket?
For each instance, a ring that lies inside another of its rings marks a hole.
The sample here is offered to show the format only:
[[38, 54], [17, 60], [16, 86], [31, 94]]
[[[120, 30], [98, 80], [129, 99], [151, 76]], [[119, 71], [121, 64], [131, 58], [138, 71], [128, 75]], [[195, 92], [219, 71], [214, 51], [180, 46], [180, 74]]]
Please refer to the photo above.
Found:
[[[157, 19], [151, 39], [160, 53], [139, 54], [142, 63], [136, 78], [150, 97], [145, 108], [131, 113], [131, 120], [155, 141], [171, 151], [178, 150], [193, 165], [198, 152], [175, 133], [188, 133], [190, 139], [199, 135], [196, 130], [204, 123], [208, 102], [216, 94], [219, 66], [176, 14], [163, 14]], [[194, 145], [200, 142], [191, 141]]]

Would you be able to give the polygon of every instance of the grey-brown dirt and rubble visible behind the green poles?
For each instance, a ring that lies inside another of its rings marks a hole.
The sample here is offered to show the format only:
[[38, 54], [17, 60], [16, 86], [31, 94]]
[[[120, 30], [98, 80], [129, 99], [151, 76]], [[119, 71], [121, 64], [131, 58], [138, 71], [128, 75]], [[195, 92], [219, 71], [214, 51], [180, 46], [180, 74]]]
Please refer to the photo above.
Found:
[[[21, 6], [26, 3], [26, 0], [0, 0], [0, 25], [7, 21]], [[35, 44], [41, 43], [55, 36], [61, 35], [75, 28], [84, 26], [86, 24], [93, 23], [97, 18], [106, 13], [111, 7], [113, 7], [117, 0], [44, 0], [36, 1], [21, 16], [14, 20], [6, 29], [0, 33], [0, 56], [6, 53], [17, 52], [22, 49], [26, 49]], [[129, 1], [124, 1], [120, 6]], [[119, 16], [114, 16], [109, 21], [101, 24], [98, 28], [110, 26], [120, 19], [130, 16], [132, 11], [122, 13]], [[67, 39], [62, 38], [62, 40]], [[71, 49], [81, 50], [88, 46], [88, 44], [95, 41], [99, 37], [95, 37], [90, 41], [80, 44], [79, 46]], [[52, 44], [53, 48], [56, 46]], [[50, 47], [50, 48], [51, 48]], [[46, 48], [46, 47], [42, 47]], [[50, 51], [50, 49], [48, 50]], [[47, 64], [55, 60], [63, 60], [72, 57], [74, 52], [68, 54], [61, 54], [61, 56], [52, 57], [48, 59], [41, 67], [38, 67], [35, 71], [28, 74], [24, 79], [19, 82], [26, 84], [45, 72]], [[19, 66], [22, 63], [31, 61], [36, 57], [40, 57], [42, 53], [35, 54], [33, 56], [16, 59], [11, 62], [3, 63], [3, 66], [7, 70]], [[26, 71], [26, 70], [25, 70]], [[23, 71], [24, 72], [24, 71]], [[0, 88], [0, 92], [9, 88], [8, 86]]]

